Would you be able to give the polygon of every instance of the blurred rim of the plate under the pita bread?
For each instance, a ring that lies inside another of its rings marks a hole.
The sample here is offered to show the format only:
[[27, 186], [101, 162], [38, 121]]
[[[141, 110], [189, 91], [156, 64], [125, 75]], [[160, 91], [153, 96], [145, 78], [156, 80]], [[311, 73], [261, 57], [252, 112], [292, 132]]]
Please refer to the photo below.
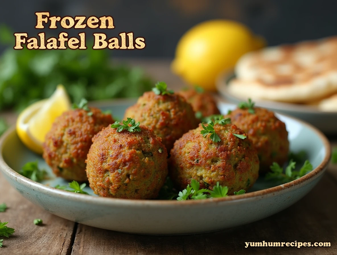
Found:
[[[231, 94], [228, 89], [228, 79], [232, 78], [232, 76], [234, 76], [234, 70], [226, 70], [224, 72], [222, 72], [216, 79], [216, 88], [217, 91], [220, 93], [220, 95], [222, 97], [225, 97], [226, 99], [228, 99], [229, 95], [231, 98], [234, 98], [237, 101], [242, 101], [243, 99]], [[231, 99], [228, 99], [231, 100]], [[260, 100], [254, 100], [256, 101], [256, 105], [260, 106], [260, 107], [264, 107], [264, 108], [269, 108], [269, 109], [273, 109], [275, 111], [278, 111], [281, 109], [281, 107], [284, 107], [283, 110], [287, 110], [287, 111], [292, 111], [292, 112], [297, 112], [297, 113], [302, 113], [302, 114], [318, 114], [318, 115], [331, 115], [331, 116], [337, 116], [337, 112], [336, 111], [322, 111], [319, 110], [318, 108], [315, 108], [312, 105], [298, 105], [296, 103], [288, 103], [288, 102], [281, 102], [281, 101], [273, 101], [273, 100], [267, 100], [267, 99], [260, 99]], [[277, 106], [273, 106], [270, 104], [277, 104]], [[295, 109], [293, 109], [294, 107], [296, 107]]]

